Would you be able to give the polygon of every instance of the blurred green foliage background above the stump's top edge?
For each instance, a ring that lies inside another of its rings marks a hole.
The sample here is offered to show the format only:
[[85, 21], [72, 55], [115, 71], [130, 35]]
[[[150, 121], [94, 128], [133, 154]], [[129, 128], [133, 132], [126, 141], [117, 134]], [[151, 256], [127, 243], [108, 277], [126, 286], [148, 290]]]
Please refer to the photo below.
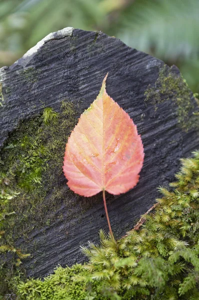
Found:
[[102, 30], [181, 70], [199, 91], [198, 0], [0, 0], [0, 66], [49, 32]]

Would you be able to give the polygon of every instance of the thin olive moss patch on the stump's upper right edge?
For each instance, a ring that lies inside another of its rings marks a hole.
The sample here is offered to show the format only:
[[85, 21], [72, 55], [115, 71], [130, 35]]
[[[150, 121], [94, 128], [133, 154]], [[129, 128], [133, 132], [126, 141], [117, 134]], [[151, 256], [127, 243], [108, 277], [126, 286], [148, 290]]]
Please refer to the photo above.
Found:
[[177, 105], [178, 124], [184, 131], [199, 127], [198, 118], [193, 113], [195, 107], [191, 99], [192, 93], [186, 80], [181, 75], [175, 74], [172, 66], [168, 68], [164, 65], [160, 69], [154, 86], [148, 85], [144, 95], [145, 101], [152, 103], [155, 110], [163, 101], [174, 101]]

